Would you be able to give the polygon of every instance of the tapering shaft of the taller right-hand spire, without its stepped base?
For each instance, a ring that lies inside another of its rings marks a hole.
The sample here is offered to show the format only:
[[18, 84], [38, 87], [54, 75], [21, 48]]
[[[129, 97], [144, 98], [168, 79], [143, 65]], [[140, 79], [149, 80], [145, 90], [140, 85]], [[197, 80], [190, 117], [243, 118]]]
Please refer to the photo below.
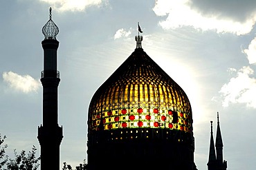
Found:
[[216, 134], [216, 152], [217, 160], [223, 162], [223, 142], [221, 138], [221, 127], [219, 126], [219, 112], [217, 112], [217, 134]]

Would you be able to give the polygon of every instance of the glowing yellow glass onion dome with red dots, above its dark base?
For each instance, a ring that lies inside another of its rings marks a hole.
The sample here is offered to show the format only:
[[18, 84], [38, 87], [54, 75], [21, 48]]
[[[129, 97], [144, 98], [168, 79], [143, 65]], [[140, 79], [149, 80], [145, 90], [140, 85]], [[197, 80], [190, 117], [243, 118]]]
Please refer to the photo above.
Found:
[[95, 92], [88, 124], [89, 134], [127, 128], [192, 133], [192, 109], [183, 89], [137, 43], [131, 56]]

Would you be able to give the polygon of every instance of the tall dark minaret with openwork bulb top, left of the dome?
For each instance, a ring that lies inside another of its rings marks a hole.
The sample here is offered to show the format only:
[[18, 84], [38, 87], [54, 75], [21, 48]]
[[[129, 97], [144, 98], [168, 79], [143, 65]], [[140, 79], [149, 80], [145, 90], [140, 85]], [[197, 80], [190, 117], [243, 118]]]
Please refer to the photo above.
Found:
[[57, 118], [57, 88], [60, 83], [60, 72], [57, 71], [57, 48], [59, 41], [56, 35], [59, 28], [51, 19], [42, 28], [44, 41], [44, 71], [41, 82], [43, 85], [43, 125], [38, 127], [38, 140], [41, 145], [41, 170], [60, 169], [60, 143], [62, 142], [62, 127]]

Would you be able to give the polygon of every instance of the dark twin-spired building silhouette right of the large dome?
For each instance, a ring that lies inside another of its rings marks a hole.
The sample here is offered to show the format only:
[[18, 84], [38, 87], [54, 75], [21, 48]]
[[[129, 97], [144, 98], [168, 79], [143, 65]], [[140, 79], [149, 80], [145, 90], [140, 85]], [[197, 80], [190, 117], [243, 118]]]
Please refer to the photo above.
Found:
[[[217, 113], [217, 133], [216, 133], [216, 144], [214, 147], [213, 132], [212, 132], [212, 121], [210, 131], [210, 151], [208, 160], [208, 170], [226, 170], [227, 161], [223, 160], [223, 142], [221, 138], [221, 127], [219, 125], [219, 113]], [[215, 153], [216, 148], [216, 153]]]

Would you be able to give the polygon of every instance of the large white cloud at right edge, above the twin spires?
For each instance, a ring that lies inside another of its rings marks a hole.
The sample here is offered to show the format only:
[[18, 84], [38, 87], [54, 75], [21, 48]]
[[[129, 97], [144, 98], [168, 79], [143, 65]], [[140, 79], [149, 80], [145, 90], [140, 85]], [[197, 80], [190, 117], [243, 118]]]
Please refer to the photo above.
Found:
[[223, 107], [228, 107], [230, 103], [246, 103], [247, 107], [256, 108], [256, 78], [250, 67], [242, 67], [240, 70], [231, 68], [228, 70], [235, 73], [235, 77], [221, 87], [219, 93], [223, 97]]

